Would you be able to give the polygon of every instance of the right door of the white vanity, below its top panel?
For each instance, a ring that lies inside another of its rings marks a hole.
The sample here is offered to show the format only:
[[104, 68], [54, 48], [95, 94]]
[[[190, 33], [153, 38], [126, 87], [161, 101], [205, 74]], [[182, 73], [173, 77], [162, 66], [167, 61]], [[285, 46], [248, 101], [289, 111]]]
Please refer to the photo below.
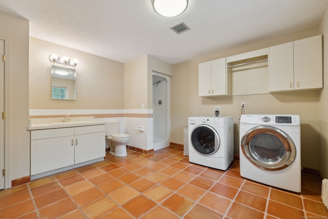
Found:
[[105, 132], [75, 135], [75, 164], [106, 155]]

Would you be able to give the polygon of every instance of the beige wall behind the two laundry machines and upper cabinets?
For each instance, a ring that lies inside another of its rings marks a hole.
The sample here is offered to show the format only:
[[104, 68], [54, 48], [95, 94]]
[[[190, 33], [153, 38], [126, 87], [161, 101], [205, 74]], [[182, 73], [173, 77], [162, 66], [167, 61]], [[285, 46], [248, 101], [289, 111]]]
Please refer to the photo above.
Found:
[[216, 52], [192, 61], [174, 65], [171, 79], [171, 142], [183, 144], [183, 127], [189, 116], [213, 115], [213, 107], [221, 107], [221, 115], [234, 117], [234, 153], [239, 154], [240, 104], [245, 113], [293, 113], [301, 118], [301, 162], [304, 167], [319, 169], [319, 91], [275, 94], [199, 97], [198, 64], [213, 59], [262, 49], [319, 34], [313, 28], [268, 41]]

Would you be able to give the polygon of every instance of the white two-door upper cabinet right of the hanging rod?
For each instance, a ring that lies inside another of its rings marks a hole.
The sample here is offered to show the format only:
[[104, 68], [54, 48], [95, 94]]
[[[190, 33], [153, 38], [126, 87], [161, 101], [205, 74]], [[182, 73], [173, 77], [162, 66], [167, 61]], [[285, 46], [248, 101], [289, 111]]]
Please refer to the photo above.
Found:
[[270, 92], [322, 88], [322, 35], [269, 50]]

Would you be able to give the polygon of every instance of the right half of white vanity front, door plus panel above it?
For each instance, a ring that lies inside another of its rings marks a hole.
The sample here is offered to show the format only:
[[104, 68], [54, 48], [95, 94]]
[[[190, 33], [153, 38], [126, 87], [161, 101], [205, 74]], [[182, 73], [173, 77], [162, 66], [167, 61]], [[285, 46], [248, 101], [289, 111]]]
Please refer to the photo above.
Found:
[[75, 127], [75, 164], [106, 156], [105, 125]]

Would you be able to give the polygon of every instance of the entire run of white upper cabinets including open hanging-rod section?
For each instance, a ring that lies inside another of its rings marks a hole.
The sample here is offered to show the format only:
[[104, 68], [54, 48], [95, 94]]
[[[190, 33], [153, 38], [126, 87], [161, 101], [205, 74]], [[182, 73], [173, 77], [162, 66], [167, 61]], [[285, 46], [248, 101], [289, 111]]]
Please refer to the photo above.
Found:
[[199, 96], [318, 90], [322, 35], [200, 63]]

